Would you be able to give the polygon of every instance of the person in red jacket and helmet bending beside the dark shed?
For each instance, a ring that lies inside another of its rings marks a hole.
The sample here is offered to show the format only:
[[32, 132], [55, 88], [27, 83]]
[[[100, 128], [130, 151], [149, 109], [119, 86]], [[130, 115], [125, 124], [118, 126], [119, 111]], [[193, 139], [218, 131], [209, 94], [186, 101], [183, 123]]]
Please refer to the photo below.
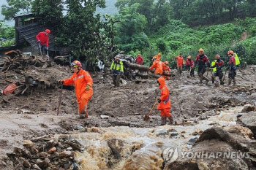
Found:
[[49, 35], [50, 30], [46, 29], [43, 32], [39, 32], [36, 36], [37, 44], [39, 46], [39, 54], [44, 55], [44, 57], [49, 50]]

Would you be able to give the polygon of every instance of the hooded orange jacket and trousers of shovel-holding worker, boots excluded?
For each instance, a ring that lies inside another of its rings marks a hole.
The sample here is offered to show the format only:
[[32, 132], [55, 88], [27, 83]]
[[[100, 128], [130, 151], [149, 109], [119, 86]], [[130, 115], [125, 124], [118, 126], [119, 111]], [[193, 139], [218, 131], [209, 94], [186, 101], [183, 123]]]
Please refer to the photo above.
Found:
[[161, 102], [158, 104], [157, 109], [161, 111], [162, 117], [170, 117], [170, 94], [169, 89], [167, 88], [167, 85], [165, 85], [165, 79], [163, 77], [160, 77], [157, 79], [160, 83], [159, 88], [161, 90]]

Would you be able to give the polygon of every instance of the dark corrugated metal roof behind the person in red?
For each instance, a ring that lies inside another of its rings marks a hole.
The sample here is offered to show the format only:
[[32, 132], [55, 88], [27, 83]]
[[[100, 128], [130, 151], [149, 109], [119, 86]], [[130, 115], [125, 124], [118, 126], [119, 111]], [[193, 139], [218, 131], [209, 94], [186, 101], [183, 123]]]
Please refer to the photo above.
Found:
[[[25, 26], [18, 26], [16, 27], [20, 34], [20, 38], [26, 39], [27, 42], [33, 47], [34, 49], [38, 50], [37, 39], [36, 36], [39, 32], [45, 31], [47, 29], [44, 26], [41, 26], [40, 23], [31, 23]], [[50, 29], [50, 36], [49, 36], [49, 50], [51, 51], [59, 51], [59, 53], [63, 54], [67, 52], [67, 48], [61, 47], [54, 47], [54, 38], [56, 35], [54, 34], [54, 30]]]

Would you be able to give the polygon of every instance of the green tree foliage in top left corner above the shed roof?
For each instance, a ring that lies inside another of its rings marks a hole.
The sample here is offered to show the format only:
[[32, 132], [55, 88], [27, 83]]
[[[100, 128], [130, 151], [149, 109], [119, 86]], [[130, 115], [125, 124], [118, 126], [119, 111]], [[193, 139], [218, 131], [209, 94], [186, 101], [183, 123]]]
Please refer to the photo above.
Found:
[[21, 13], [30, 12], [32, 0], [7, 0], [8, 5], [1, 6], [1, 14], [5, 20], [12, 20], [13, 17]]

